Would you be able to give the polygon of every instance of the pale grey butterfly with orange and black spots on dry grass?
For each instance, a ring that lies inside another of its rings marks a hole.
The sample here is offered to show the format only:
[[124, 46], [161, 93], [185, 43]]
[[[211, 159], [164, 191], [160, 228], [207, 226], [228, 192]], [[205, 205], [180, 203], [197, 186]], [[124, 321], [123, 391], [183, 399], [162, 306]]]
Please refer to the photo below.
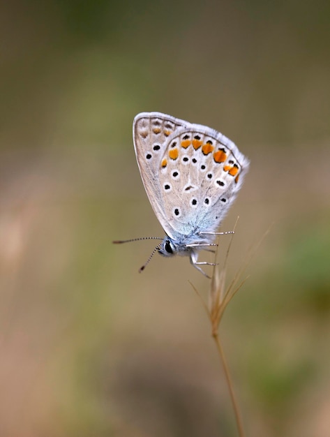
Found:
[[198, 253], [216, 245], [216, 230], [237, 197], [248, 158], [222, 133], [161, 112], [137, 114], [133, 140], [144, 188], [166, 233], [153, 253], [188, 255], [207, 276], [200, 265], [213, 263], [198, 262]]

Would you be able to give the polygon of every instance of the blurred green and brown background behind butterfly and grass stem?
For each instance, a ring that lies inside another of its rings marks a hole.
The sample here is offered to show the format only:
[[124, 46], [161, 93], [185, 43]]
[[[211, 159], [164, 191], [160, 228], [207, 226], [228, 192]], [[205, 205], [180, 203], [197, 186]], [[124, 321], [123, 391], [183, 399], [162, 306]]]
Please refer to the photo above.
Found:
[[[132, 121], [160, 111], [251, 160], [221, 334], [248, 436], [330, 435], [330, 3], [0, 6], [0, 435], [236, 436], [188, 259], [163, 236]], [[224, 253], [228, 237], [220, 240]], [[222, 250], [221, 250], [222, 249]]]

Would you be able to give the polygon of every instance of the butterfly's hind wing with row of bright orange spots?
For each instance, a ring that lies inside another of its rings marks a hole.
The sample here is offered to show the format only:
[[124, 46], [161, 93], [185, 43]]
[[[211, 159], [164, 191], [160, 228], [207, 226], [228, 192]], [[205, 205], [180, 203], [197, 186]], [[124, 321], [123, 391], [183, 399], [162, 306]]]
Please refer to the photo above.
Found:
[[[167, 221], [181, 235], [215, 231], [237, 196], [248, 159], [224, 135], [192, 124], [168, 139], [160, 165]], [[193, 238], [194, 239], [194, 238]]]

